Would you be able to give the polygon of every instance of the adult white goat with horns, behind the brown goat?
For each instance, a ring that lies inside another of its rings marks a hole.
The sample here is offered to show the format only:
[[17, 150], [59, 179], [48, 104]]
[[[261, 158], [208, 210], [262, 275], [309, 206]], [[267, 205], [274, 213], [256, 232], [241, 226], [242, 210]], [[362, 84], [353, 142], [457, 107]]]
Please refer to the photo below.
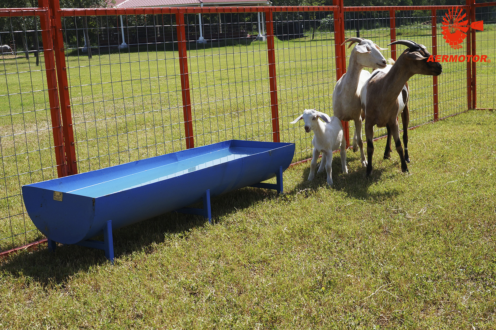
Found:
[[362, 142], [362, 121], [364, 113], [360, 101], [360, 91], [365, 81], [371, 76], [365, 67], [384, 68], [386, 59], [379, 50], [386, 50], [374, 44], [371, 40], [363, 38], [349, 38], [344, 43], [350, 42], [348, 48], [358, 43], [350, 53], [347, 72], [339, 78], [332, 92], [332, 109], [334, 116], [344, 121], [355, 121], [355, 135], [353, 136], [353, 151], [360, 148], [362, 165], [367, 166]]

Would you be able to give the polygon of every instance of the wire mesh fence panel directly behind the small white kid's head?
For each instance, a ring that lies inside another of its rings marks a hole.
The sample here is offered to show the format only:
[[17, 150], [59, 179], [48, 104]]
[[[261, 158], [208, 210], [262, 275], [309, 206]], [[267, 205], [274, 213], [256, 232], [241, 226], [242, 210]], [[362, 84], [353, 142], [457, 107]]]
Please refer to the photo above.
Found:
[[304, 109], [332, 115], [336, 55], [332, 11], [282, 11], [274, 15], [281, 141], [296, 144], [295, 159], [311, 157], [312, 134], [303, 122], [290, 124]]

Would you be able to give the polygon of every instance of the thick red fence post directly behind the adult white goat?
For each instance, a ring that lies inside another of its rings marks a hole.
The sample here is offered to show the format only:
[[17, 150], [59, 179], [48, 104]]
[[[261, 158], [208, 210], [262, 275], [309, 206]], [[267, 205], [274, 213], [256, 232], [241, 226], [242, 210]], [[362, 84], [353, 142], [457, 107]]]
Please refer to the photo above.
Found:
[[[345, 41], [344, 35], [344, 4], [343, 0], [333, 0], [334, 9], [334, 47], [336, 51], [336, 81], [346, 73], [346, 45], [341, 46]], [[341, 121], [343, 125], [343, 135], [346, 139], [346, 147], [350, 147], [350, 124]]]

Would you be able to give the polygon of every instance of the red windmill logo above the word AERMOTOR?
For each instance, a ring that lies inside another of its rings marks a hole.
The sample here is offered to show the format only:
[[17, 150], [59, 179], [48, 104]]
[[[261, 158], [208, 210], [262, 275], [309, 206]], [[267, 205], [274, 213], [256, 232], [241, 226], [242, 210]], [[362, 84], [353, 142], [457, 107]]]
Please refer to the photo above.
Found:
[[462, 15], [462, 10], [458, 11], [458, 7], [449, 10], [446, 15], [442, 18], [442, 35], [446, 43], [451, 46], [451, 48], [461, 48], [460, 45], [465, 38], [467, 38], [466, 32], [469, 28], [484, 31], [483, 21], [473, 22], [467, 25], [468, 19], [464, 20], [467, 14]]

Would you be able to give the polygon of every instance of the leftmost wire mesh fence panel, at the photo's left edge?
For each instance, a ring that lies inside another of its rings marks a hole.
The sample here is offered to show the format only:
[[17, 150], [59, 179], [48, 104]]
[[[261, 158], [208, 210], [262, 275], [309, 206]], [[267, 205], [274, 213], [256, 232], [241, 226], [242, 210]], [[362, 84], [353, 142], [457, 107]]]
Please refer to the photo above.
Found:
[[0, 251], [40, 239], [21, 186], [57, 178], [37, 16], [0, 17]]

